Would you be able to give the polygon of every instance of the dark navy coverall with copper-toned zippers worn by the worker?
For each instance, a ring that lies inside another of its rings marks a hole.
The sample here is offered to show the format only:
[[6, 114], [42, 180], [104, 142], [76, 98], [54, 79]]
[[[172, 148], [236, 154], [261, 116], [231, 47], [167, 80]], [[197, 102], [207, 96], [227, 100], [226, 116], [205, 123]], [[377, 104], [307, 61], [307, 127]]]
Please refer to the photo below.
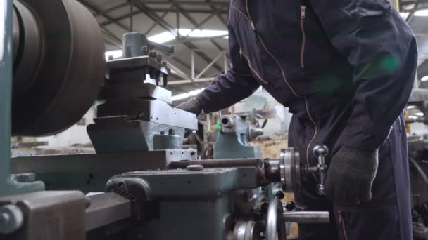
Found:
[[301, 239], [412, 239], [401, 113], [417, 46], [389, 0], [234, 0], [228, 27], [232, 65], [196, 97], [204, 112], [229, 107], [261, 85], [294, 114], [289, 147], [310, 166], [315, 145], [327, 145], [330, 157], [341, 146], [380, 147], [367, 203], [337, 206], [315, 193], [313, 175], [303, 179], [296, 204], [329, 209], [332, 223], [301, 225]]

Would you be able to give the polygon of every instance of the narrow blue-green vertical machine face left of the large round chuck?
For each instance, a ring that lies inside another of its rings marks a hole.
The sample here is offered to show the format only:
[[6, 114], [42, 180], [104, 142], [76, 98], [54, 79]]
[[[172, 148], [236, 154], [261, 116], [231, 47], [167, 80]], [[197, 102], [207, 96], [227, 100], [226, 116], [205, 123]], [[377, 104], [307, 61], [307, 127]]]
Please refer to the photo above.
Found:
[[12, 0], [0, 4], [0, 196], [11, 185], [12, 6]]

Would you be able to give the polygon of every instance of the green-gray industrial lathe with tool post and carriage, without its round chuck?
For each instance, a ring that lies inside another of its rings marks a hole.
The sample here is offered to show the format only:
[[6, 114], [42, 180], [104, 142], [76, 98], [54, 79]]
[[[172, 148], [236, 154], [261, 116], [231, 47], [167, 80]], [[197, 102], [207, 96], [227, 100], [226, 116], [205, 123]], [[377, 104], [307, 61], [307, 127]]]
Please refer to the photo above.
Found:
[[[247, 146], [258, 130], [228, 115], [218, 146], [242, 155], [182, 149], [198, 124], [170, 105], [159, 52], [172, 47], [128, 33], [123, 57], [105, 61], [101, 29], [75, 0], [3, 0], [0, 32], [0, 239], [274, 240], [287, 239], [287, 222], [329, 222], [281, 201], [306, 174], [323, 193], [327, 147], [315, 147], [317, 166], [294, 148], [264, 159]], [[11, 135], [59, 133], [94, 102], [94, 153], [11, 159]]]

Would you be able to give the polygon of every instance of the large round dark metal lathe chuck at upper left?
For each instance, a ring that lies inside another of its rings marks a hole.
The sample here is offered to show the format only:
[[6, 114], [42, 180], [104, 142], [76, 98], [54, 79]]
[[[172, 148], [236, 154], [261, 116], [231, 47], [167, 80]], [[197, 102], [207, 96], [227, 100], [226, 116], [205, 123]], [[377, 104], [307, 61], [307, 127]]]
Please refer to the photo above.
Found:
[[84, 116], [101, 89], [101, 29], [75, 0], [15, 0], [14, 11], [12, 133], [61, 132]]

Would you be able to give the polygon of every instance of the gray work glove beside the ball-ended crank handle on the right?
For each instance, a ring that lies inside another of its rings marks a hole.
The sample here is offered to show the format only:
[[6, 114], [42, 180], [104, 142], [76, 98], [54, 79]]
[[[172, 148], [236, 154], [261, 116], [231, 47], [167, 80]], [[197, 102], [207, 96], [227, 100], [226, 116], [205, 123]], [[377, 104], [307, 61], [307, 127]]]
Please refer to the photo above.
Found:
[[341, 147], [333, 156], [325, 181], [325, 196], [339, 205], [356, 205], [372, 199], [377, 150]]

